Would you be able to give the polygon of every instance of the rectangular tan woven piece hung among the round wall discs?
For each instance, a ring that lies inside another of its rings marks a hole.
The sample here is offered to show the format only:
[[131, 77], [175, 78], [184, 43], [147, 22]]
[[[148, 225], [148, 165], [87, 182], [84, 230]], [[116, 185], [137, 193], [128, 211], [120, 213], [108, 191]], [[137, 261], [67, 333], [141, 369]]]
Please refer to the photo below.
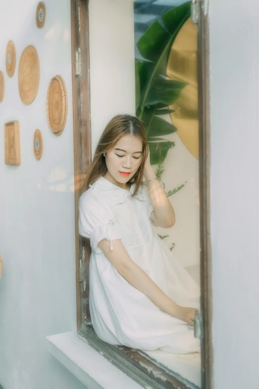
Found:
[[4, 125], [4, 159], [6, 165], [19, 165], [20, 157], [20, 128], [14, 120]]

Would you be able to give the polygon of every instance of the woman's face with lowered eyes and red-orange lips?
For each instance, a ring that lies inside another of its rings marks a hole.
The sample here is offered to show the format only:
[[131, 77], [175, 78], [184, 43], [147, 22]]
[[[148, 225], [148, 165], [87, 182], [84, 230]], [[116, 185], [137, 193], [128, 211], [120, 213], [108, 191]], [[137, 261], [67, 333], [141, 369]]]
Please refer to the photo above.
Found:
[[[125, 135], [113, 147], [113, 149], [104, 153], [106, 166], [108, 169], [107, 178], [114, 178], [121, 183], [122, 187], [126, 185], [135, 174], [142, 161], [142, 140], [134, 135]], [[122, 174], [129, 173], [129, 174]]]

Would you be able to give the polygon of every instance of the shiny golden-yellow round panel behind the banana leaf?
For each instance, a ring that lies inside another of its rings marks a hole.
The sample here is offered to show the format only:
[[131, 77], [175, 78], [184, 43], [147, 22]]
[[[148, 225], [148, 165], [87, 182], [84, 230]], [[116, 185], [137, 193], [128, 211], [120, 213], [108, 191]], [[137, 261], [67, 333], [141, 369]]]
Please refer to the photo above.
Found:
[[180, 97], [170, 106], [173, 124], [187, 147], [198, 159], [198, 83], [197, 83], [197, 28], [189, 18], [179, 31], [167, 64], [170, 78], [187, 82]]

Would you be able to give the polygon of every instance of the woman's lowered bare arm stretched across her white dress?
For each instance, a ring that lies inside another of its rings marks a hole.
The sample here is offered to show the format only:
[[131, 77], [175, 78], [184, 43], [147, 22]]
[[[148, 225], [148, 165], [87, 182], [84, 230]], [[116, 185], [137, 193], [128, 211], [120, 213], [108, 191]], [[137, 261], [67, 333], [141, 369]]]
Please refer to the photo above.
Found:
[[162, 311], [169, 313], [187, 323], [193, 325], [195, 310], [184, 308], [176, 304], [168, 297], [148, 275], [131, 260], [129, 254], [120, 239], [113, 240], [113, 251], [110, 250], [110, 242], [102, 239], [98, 246], [111, 261], [119, 274], [123, 276], [131, 286], [142, 292]]

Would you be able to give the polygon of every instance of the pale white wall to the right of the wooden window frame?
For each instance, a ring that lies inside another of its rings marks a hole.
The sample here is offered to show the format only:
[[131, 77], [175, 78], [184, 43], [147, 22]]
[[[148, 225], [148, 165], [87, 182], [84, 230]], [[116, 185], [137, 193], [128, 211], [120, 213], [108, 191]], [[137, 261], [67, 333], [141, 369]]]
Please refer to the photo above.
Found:
[[259, 2], [211, 0], [215, 389], [259, 388]]

